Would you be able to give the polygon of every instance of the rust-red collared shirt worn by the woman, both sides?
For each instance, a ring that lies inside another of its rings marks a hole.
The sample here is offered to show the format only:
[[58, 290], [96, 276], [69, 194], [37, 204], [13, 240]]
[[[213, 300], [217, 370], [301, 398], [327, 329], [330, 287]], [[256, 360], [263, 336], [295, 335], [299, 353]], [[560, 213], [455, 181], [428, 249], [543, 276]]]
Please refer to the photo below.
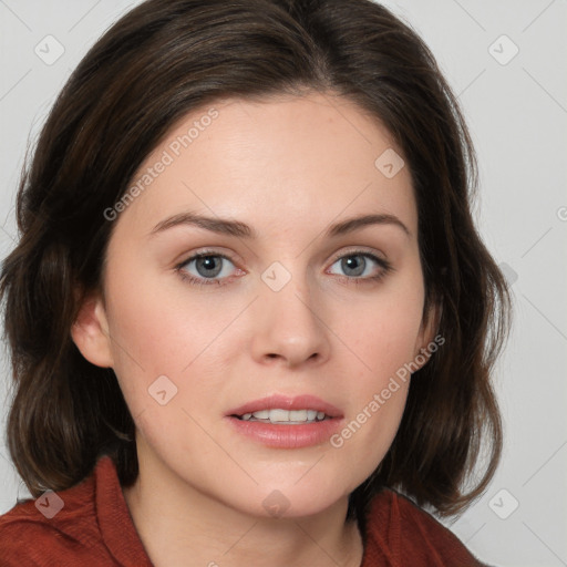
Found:
[[[361, 567], [483, 567], [433, 516], [392, 491], [374, 497], [363, 539]], [[101, 457], [76, 486], [0, 516], [0, 566], [152, 567], [112, 460]]]

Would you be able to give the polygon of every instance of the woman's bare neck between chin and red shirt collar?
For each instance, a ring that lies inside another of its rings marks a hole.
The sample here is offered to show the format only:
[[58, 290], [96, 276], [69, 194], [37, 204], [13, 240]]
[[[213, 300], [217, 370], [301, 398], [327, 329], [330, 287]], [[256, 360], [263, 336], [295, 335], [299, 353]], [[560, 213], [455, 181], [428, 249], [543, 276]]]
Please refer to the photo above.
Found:
[[[143, 466], [144, 465], [144, 466]], [[302, 517], [258, 517], [203, 494], [171, 473], [141, 462], [124, 498], [155, 567], [359, 567], [362, 538], [347, 522], [348, 497]]]

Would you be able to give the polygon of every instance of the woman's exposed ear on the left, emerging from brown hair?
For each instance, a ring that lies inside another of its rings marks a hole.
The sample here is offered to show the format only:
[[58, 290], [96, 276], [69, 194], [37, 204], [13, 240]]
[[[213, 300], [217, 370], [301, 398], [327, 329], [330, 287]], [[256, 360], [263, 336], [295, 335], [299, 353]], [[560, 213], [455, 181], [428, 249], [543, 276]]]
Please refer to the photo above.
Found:
[[93, 364], [114, 364], [104, 302], [100, 293], [86, 296], [71, 328], [71, 337], [81, 354]]

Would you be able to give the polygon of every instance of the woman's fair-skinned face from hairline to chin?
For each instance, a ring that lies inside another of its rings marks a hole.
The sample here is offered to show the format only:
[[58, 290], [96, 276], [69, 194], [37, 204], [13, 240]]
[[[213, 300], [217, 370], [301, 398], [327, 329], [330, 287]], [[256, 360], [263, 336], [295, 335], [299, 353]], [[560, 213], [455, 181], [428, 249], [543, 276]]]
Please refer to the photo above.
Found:
[[193, 112], [146, 158], [113, 220], [106, 354], [81, 344], [117, 375], [141, 468], [257, 516], [316, 514], [377, 468], [431, 340], [400, 155], [310, 94]]

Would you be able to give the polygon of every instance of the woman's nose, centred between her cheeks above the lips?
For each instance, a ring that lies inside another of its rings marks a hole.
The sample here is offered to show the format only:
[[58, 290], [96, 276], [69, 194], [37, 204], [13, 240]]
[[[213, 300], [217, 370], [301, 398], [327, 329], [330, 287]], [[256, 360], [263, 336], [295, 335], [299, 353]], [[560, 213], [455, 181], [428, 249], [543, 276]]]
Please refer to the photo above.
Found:
[[321, 364], [329, 358], [331, 332], [322, 300], [315, 301], [305, 279], [292, 277], [275, 291], [261, 284], [255, 301], [252, 355], [261, 364], [297, 368]]

